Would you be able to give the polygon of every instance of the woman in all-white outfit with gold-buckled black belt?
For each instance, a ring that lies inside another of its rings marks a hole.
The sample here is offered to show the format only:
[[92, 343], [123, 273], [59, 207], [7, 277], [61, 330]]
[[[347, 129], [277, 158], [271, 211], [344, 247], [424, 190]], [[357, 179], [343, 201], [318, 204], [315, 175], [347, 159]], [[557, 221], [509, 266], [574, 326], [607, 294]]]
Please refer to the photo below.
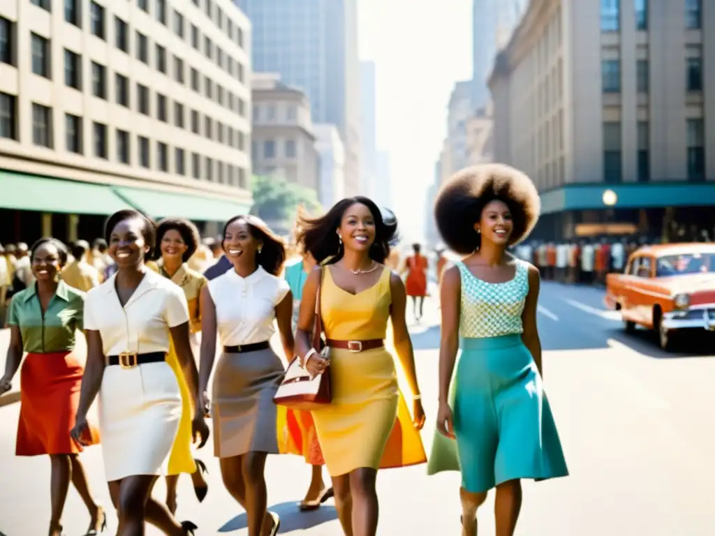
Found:
[[[85, 298], [87, 367], [71, 434], [82, 441], [87, 412], [99, 393], [104, 472], [118, 510], [117, 534], [144, 534], [145, 521], [170, 536], [193, 534], [192, 522], [177, 522], [151, 496], [166, 470], [182, 413], [177, 378], [166, 362], [169, 337], [194, 402], [197, 397], [186, 298], [180, 287], [144, 266], [156, 239], [149, 218], [122, 210], [109, 217], [104, 234], [118, 269]], [[203, 445], [208, 428], [202, 412], [192, 427]]]

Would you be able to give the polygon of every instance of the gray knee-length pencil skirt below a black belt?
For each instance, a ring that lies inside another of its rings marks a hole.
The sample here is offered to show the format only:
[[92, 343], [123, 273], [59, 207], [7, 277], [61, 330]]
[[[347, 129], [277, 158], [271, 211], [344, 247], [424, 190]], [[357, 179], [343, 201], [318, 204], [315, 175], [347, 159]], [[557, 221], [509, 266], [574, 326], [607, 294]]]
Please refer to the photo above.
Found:
[[285, 372], [272, 349], [221, 354], [214, 374], [214, 455], [278, 454], [273, 397]]

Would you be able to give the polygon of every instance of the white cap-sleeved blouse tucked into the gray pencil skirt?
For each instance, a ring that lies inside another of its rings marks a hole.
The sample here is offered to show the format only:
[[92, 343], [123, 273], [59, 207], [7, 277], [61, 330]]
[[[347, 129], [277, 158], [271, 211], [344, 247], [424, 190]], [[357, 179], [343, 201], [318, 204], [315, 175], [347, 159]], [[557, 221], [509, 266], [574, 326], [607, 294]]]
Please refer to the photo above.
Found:
[[262, 267], [248, 277], [230, 269], [211, 279], [208, 287], [224, 346], [270, 340], [275, 333], [275, 307], [290, 292], [285, 279], [269, 274]]

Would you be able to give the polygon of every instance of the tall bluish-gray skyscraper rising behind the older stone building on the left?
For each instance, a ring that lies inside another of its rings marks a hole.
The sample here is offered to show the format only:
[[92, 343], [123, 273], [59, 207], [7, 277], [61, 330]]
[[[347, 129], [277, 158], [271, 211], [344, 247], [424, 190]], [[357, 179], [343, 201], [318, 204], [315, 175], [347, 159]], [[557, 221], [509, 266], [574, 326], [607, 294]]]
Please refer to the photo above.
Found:
[[237, 0], [252, 24], [256, 72], [302, 89], [315, 123], [345, 144], [345, 194], [360, 189], [360, 62], [356, 0]]

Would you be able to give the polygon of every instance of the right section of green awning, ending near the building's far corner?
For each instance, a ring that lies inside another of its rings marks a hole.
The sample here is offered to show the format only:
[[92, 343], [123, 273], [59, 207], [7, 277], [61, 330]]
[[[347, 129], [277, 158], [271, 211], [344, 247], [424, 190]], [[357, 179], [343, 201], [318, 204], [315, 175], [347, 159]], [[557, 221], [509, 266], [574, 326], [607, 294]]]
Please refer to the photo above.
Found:
[[203, 195], [174, 194], [142, 188], [114, 187], [119, 197], [153, 218], [182, 217], [196, 222], [226, 222], [248, 214], [246, 204]]

